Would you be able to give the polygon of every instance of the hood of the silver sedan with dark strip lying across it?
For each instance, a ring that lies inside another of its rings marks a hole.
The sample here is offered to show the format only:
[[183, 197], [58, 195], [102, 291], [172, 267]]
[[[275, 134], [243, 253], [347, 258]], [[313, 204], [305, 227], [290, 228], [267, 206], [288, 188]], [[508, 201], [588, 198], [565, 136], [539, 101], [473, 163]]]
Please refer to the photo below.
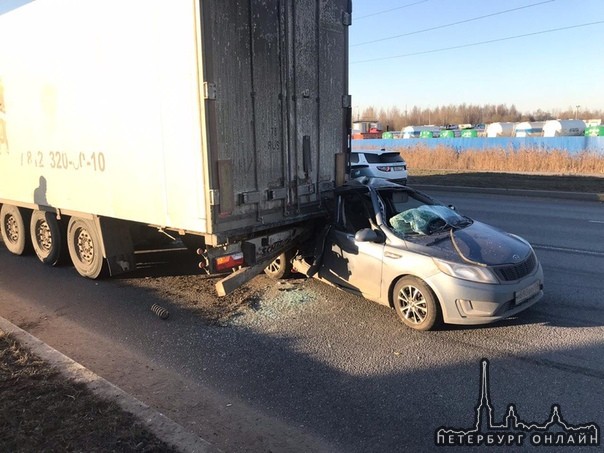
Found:
[[410, 248], [419, 247], [436, 258], [487, 266], [519, 263], [531, 254], [523, 240], [476, 221], [465, 228], [406, 239]]

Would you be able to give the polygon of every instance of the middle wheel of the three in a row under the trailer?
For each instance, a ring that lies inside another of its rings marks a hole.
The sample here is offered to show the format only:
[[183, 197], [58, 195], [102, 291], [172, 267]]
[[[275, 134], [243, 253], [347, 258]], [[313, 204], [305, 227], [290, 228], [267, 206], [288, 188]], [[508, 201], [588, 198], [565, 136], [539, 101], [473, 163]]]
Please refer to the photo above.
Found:
[[65, 254], [65, 234], [56, 216], [50, 212], [34, 211], [29, 224], [31, 243], [38, 259], [55, 266]]

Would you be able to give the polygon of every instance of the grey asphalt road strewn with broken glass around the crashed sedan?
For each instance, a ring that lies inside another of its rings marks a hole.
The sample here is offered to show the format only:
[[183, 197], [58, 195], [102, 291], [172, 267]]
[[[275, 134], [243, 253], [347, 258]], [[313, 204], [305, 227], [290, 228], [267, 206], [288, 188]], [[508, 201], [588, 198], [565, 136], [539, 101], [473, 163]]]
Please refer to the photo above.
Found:
[[531, 241], [544, 299], [491, 326], [419, 333], [319, 282], [280, 291], [259, 277], [272, 297], [217, 326], [134, 280], [88, 281], [2, 248], [0, 315], [225, 451], [432, 450], [439, 427], [473, 428], [482, 358], [495, 422], [514, 404], [543, 424], [557, 404], [568, 424], [604, 427], [604, 205], [432, 195]]

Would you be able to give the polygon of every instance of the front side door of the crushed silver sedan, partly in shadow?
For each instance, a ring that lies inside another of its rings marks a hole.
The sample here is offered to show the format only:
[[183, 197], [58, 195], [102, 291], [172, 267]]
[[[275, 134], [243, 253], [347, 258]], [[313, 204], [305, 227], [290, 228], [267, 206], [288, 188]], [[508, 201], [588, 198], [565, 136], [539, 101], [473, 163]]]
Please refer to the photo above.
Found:
[[355, 233], [371, 228], [373, 221], [368, 193], [350, 192], [338, 197], [337, 220], [325, 242], [320, 276], [378, 299], [382, 280], [384, 244], [360, 242]]

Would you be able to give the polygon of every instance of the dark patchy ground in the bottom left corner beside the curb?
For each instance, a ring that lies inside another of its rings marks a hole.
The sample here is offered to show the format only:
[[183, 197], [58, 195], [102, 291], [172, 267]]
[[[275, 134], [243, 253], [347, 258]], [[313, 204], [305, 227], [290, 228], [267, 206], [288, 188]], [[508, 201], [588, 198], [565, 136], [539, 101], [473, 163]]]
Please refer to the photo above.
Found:
[[0, 450], [177, 451], [0, 332]]

